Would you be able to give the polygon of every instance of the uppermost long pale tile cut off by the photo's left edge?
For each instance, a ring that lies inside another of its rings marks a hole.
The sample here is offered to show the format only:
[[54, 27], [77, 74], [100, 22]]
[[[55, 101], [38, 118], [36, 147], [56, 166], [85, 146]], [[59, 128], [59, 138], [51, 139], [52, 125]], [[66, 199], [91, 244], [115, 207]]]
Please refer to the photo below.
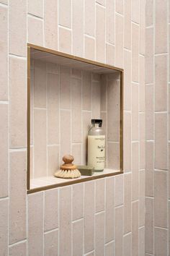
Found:
[[1, 43], [1, 51], [0, 51], [0, 100], [6, 101], [8, 99], [8, 44], [7, 44], [7, 26], [8, 26], [8, 12], [5, 7], [0, 7], [0, 43]]

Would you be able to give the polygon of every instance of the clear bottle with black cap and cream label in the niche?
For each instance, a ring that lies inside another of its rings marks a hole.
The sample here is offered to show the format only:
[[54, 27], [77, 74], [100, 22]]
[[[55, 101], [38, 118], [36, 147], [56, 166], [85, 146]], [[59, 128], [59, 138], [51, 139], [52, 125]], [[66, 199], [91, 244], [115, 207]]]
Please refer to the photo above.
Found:
[[91, 119], [92, 127], [88, 135], [87, 164], [94, 171], [103, 171], [105, 162], [105, 135], [102, 129], [102, 119]]

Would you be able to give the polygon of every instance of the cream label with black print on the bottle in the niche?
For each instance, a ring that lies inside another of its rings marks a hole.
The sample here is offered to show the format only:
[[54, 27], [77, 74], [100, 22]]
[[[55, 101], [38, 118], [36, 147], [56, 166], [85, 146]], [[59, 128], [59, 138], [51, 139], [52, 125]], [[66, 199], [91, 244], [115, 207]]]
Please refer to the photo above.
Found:
[[88, 136], [88, 165], [103, 170], [105, 162], [105, 135]]

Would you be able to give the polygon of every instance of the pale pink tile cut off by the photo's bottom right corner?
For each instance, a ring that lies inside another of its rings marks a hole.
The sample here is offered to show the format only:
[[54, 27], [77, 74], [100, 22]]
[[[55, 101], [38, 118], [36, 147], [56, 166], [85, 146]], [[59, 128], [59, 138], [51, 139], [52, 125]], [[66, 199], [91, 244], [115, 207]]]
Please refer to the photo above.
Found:
[[154, 252], [155, 255], [164, 256], [168, 255], [168, 230], [167, 229], [154, 229]]

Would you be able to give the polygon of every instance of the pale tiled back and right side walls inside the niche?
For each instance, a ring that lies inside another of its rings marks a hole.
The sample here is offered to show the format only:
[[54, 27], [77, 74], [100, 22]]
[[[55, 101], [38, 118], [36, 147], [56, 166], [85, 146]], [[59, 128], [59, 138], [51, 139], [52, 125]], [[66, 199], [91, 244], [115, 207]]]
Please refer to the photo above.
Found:
[[107, 139], [105, 168], [120, 170], [120, 72], [32, 61], [31, 179], [53, 175], [66, 154], [86, 165], [91, 119], [99, 118]]

